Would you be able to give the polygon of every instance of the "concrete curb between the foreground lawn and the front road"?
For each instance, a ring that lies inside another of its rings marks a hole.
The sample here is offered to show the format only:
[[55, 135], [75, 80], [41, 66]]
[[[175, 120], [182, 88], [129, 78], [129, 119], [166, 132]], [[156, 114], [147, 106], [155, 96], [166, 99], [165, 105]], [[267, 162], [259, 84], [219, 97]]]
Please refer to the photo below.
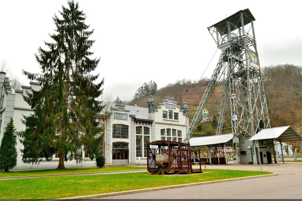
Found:
[[[95, 199], [95, 198], [102, 198], [102, 197], [109, 197], [109, 196], [127, 195], [127, 194], [133, 194], [133, 193], [143, 193], [143, 192], [156, 191], [156, 190], [165, 190], [165, 189], [180, 188], [180, 187], [198, 186], [198, 185], [204, 185], [204, 184], [210, 184], [210, 183], [221, 183], [221, 182], [227, 182], [227, 181], [237, 181], [237, 180], [253, 179], [253, 178], [260, 178], [260, 177], [272, 177], [272, 176], [277, 176], [277, 175], [278, 175], [277, 173], [264, 174], [264, 175], [256, 175], [256, 176], [249, 176], [249, 177], [238, 177], [238, 178], [222, 179], [222, 180], [214, 180], [214, 181], [203, 181], [203, 182], [197, 182], [197, 183], [185, 183], [185, 184], [178, 184], [178, 185], [171, 185], [171, 186], [144, 188], [144, 189], [137, 189], [137, 190], [126, 190], [126, 191], [119, 191], [119, 192], [112, 192], [112, 193], [101, 193], [101, 194], [94, 194], [94, 195], [57, 198], [57, 199], [49, 199], [47, 201], [57, 201], [59, 199], [64, 199], [64, 200]], [[46, 200], [44, 200], [44, 201], [46, 201]]]

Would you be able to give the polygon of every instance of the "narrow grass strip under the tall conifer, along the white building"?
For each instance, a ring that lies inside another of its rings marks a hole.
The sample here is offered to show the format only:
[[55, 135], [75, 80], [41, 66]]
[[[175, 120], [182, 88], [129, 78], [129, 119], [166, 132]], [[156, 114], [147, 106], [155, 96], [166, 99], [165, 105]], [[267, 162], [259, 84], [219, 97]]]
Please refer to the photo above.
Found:
[[71, 173], [89, 173], [89, 172], [108, 172], [108, 171], [124, 171], [124, 170], [144, 170], [144, 167], [104, 167], [104, 168], [69, 168], [64, 170], [47, 169], [47, 170], [26, 170], [26, 171], [10, 171], [0, 172], [0, 177], [17, 177], [17, 176], [31, 176], [44, 174], [71, 174]]

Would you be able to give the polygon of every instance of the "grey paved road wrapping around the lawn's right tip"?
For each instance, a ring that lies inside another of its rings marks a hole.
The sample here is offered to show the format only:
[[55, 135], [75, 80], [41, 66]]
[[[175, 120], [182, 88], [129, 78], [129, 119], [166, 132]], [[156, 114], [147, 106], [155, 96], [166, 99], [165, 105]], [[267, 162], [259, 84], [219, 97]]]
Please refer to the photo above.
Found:
[[[207, 169], [259, 171], [260, 166], [207, 165]], [[111, 196], [104, 199], [301, 199], [302, 163], [263, 165], [262, 170], [278, 173], [278, 176]]]

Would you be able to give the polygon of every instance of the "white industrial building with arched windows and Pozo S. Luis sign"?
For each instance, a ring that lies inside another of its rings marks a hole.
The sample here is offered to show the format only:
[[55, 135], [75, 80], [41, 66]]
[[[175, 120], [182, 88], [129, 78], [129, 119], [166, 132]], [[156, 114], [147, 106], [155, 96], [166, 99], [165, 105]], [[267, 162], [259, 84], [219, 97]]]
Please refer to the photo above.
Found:
[[[25, 130], [21, 123], [23, 115], [33, 113], [31, 107], [23, 100], [22, 94], [31, 89], [39, 90], [37, 82], [30, 86], [22, 86], [22, 90], [12, 89], [5, 73], [0, 72], [0, 142], [4, 129], [12, 117], [17, 131]], [[149, 108], [124, 105], [121, 101], [110, 103], [106, 111], [97, 115], [98, 121], [106, 121], [105, 150], [106, 164], [140, 163], [146, 164], [146, 142], [149, 140], [178, 141], [185, 138], [188, 132], [188, 105], [183, 108], [177, 105], [171, 94], [168, 94], [156, 106], [152, 96], [148, 100]], [[104, 123], [100, 123], [100, 126]], [[25, 164], [20, 149], [24, 146], [17, 140], [18, 159], [15, 169], [56, 168], [59, 163], [58, 154], [52, 161], [43, 160], [40, 164]], [[41, 155], [43, 157], [43, 155]], [[75, 160], [65, 162], [65, 167], [84, 167], [95, 165], [95, 160], [88, 158], [83, 148], [81, 163]]]

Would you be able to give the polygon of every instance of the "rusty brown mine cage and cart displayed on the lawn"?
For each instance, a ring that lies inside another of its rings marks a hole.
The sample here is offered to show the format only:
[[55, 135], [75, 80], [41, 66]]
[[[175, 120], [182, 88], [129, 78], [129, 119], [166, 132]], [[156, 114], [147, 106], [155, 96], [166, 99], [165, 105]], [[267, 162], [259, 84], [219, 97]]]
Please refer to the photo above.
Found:
[[[198, 152], [198, 156], [193, 156], [194, 152]], [[199, 168], [193, 169], [192, 164], [199, 165]], [[168, 172], [176, 174], [202, 173], [200, 150], [192, 149], [190, 143], [180, 141], [147, 142], [147, 170], [151, 174], [167, 174]]]

